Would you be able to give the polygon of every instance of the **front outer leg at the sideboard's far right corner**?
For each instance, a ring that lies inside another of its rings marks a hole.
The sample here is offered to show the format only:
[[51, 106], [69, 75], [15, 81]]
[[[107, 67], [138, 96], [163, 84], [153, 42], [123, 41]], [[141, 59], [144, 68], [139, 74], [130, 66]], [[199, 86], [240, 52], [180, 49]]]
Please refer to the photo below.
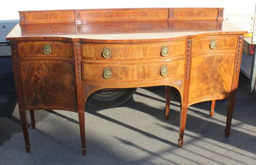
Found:
[[225, 137], [228, 137], [229, 133], [230, 133], [230, 126], [231, 126], [231, 121], [232, 121], [232, 116], [233, 116], [233, 111], [234, 111], [234, 101], [235, 100], [236, 100], [236, 98], [231, 98], [228, 101]]

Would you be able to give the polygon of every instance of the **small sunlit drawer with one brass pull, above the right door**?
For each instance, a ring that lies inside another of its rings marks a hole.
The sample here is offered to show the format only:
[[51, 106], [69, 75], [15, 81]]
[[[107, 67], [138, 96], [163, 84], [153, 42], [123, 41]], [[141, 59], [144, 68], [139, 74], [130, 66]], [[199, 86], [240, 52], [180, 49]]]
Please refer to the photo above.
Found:
[[237, 35], [207, 36], [193, 39], [192, 53], [208, 50], [237, 49]]

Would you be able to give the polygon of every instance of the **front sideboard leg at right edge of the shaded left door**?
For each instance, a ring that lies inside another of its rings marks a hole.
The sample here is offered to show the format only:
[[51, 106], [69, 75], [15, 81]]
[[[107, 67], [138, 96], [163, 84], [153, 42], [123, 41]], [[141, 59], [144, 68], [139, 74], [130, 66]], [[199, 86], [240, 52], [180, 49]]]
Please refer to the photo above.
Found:
[[80, 127], [80, 136], [82, 143], [82, 155], [86, 155], [86, 129], [84, 123], [84, 110], [78, 110], [78, 119], [79, 119], [79, 127]]

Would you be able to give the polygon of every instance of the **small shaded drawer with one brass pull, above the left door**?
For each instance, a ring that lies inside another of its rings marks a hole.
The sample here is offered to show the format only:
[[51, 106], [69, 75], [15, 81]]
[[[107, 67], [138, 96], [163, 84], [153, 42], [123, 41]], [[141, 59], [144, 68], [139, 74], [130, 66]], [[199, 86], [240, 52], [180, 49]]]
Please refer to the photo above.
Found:
[[18, 42], [20, 57], [74, 57], [73, 44], [58, 41], [22, 41]]

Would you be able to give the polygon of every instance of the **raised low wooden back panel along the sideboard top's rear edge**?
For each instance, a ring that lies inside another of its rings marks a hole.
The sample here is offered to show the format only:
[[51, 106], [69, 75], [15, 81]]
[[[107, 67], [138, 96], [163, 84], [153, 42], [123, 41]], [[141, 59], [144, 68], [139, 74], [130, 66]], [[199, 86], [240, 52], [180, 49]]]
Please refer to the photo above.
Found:
[[19, 11], [20, 24], [138, 20], [223, 20], [223, 8], [137, 8]]

